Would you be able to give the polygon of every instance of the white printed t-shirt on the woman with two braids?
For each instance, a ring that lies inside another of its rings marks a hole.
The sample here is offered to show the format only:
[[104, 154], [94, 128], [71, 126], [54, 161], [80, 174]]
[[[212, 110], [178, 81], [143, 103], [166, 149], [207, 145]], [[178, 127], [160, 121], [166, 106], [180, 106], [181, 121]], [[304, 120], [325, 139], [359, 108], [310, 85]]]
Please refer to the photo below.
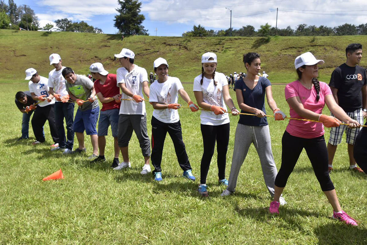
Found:
[[[213, 79], [207, 79], [205, 77], [203, 78], [203, 85], [201, 85], [201, 75], [197, 76], [194, 79], [193, 91], [201, 91], [204, 102], [223, 107], [227, 110], [222, 93], [223, 87], [228, 86], [226, 76], [223, 73], [215, 72], [214, 79], [217, 82], [217, 86], [214, 86]], [[201, 111], [200, 120], [203, 125], [217, 126], [229, 123], [229, 116], [228, 113], [215, 115], [213, 111]]]

